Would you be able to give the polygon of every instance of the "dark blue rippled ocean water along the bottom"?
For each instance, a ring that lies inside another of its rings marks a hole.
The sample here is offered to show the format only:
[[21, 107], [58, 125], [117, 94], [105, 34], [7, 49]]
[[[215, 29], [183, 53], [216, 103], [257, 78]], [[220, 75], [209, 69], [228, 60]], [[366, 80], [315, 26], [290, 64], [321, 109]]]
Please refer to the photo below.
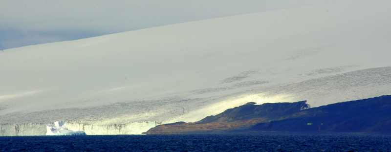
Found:
[[3, 136], [1, 152], [391, 152], [391, 135]]

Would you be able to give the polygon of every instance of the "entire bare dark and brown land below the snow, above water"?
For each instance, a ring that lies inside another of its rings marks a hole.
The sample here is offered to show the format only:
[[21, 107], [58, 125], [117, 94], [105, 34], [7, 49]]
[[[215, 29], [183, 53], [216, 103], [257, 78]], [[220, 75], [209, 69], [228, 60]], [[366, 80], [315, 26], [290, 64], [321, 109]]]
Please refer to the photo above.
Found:
[[391, 96], [309, 108], [305, 101], [266, 103], [227, 109], [195, 123], [156, 126], [145, 134], [223, 132], [369, 132], [391, 133]]

